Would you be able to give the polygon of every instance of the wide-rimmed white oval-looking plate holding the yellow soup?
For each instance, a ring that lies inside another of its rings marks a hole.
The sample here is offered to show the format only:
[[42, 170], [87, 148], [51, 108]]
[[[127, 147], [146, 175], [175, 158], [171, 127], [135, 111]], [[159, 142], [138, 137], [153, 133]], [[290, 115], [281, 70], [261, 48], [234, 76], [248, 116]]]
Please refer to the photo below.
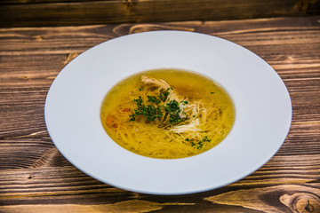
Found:
[[[108, 90], [129, 75], [164, 67], [207, 75], [229, 92], [236, 122], [220, 145], [160, 160], [132, 154], [108, 137], [100, 122]], [[292, 105], [281, 78], [252, 51], [215, 36], [156, 31], [84, 51], [52, 83], [44, 114], [55, 146], [84, 173], [134, 192], [182, 194], [228, 185], [268, 162], [290, 129]]]

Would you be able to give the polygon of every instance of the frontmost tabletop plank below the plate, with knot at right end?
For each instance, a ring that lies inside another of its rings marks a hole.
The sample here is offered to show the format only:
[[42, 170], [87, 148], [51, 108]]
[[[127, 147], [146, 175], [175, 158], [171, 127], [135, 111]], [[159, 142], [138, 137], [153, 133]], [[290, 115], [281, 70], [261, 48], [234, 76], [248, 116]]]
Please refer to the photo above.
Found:
[[[303, 155], [292, 158], [275, 156], [264, 168], [241, 181], [220, 189], [182, 196], [155, 196], [128, 192], [102, 184], [69, 166], [2, 170], [0, 202], [4, 209], [15, 210], [12, 212], [23, 210], [23, 208], [36, 210], [33, 205], [38, 204], [43, 205], [45, 209], [49, 207], [56, 209], [68, 203], [88, 206], [116, 203], [123, 205], [124, 201], [132, 201], [129, 205], [131, 208], [134, 206], [134, 201], [146, 201], [156, 202], [155, 204], [162, 206], [161, 209], [168, 210], [173, 210], [175, 205], [185, 206], [191, 212], [205, 207], [220, 210], [232, 209], [232, 206], [261, 210], [259, 205], [253, 205], [255, 206], [253, 207], [250, 203], [264, 203], [264, 208], [269, 208], [267, 212], [277, 212], [271, 210], [286, 209], [285, 205], [279, 203], [279, 200], [286, 197], [285, 194], [304, 193], [304, 196], [300, 197], [301, 200], [309, 196], [310, 201], [318, 201], [312, 195], [319, 194], [320, 184], [318, 180], [315, 181], [320, 170], [319, 156], [306, 156], [307, 165], [300, 163]], [[254, 194], [254, 197], [249, 199], [247, 197], [249, 194]], [[164, 202], [167, 205], [163, 205]], [[214, 206], [213, 203], [222, 206]], [[144, 208], [148, 212], [148, 207]]]

